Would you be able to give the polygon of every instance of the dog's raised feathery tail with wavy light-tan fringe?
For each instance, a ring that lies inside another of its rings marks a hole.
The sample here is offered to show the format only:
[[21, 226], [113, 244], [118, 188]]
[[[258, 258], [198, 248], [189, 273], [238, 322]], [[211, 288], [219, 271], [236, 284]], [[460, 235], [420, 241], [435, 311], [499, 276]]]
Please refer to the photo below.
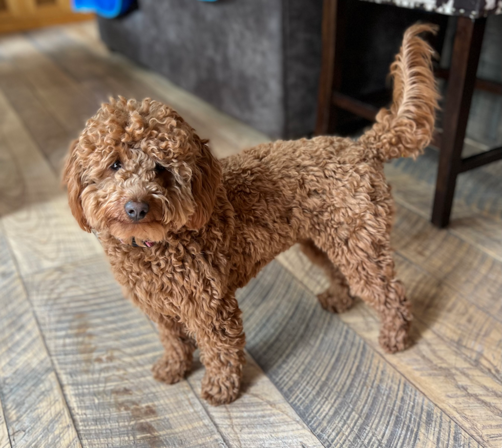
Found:
[[382, 160], [421, 154], [432, 139], [439, 94], [432, 72], [434, 50], [419, 37], [437, 27], [416, 24], [404, 33], [403, 45], [390, 66], [394, 90], [390, 109], [381, 109], [376, 123], [361, 138]]

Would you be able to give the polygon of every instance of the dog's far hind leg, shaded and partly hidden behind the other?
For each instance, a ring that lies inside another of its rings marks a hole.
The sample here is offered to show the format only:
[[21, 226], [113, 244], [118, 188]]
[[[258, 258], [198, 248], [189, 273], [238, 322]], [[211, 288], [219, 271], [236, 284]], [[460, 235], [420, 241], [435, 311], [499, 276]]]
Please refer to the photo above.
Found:
[[302, 241], [302, 252], [324, 270], [329, 280], [329, 288], [318, 294], [321, 306], [332, 313], [343, 313], [352, 307], [354, 297], [350, 295], [345, 276], [329, 259], [327, 254], [319, 249], [312, 240]]

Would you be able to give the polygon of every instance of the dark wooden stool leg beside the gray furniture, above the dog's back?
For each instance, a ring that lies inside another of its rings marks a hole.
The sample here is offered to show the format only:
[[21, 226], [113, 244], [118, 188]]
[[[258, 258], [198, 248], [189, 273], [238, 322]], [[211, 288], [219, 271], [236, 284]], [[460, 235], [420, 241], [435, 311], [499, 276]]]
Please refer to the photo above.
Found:
[[345, 0], [324, 0], [322, 22], [322, 62], [319, 76], [316, 135], [330, 131], [332, 123], [332, 95], [341, 84], [341, 50]]

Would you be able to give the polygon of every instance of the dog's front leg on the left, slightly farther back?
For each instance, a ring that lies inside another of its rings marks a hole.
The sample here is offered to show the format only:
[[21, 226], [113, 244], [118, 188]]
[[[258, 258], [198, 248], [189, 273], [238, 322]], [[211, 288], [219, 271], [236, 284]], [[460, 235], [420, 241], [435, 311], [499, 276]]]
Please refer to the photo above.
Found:
[[168, 316], [153, 316], [157, 322], [164, 354], [153, 365], [155, 379], [173, 384], [184, 378], [192, 369], [195, 340], [186, 333], [182, 323]]

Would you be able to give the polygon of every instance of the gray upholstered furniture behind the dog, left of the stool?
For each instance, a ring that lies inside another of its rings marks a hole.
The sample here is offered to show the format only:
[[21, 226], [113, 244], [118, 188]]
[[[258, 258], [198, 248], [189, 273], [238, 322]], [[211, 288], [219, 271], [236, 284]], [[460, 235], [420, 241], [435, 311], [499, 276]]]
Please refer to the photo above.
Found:
[[139, 0], [104, 42], [271, 137], [315, 126], [321, 0]]

